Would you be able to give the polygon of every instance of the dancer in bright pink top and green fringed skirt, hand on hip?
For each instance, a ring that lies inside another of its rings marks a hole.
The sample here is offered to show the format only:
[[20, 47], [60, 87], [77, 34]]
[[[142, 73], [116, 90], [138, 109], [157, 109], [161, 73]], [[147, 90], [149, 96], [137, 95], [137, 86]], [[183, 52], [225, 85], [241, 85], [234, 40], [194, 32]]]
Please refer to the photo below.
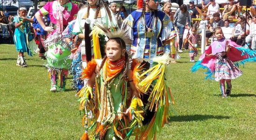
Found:
[[[49, 68], [48, 71], [51, 74], [50, 91], [52, 92], [65, 90], [65, 81], [71, 65], [71, 60], [68, 56], [71, 52], [69, 44], [65, 42], [62, 36], [62, 32], [77, 13], [78, 6], [76, 4], [71, 3], [69, 0], [55, 0], [46, 3], [35, 15], [43, 30], [48, 32], [44, 45], [48, 49], [46, 53], [46, 67]], [[41, 18], [46, 14], [49, 14], [51, 22], [48, 27], [45, 26]], [[60, 77], [60, 87], [57, 89], [58, 74]]]

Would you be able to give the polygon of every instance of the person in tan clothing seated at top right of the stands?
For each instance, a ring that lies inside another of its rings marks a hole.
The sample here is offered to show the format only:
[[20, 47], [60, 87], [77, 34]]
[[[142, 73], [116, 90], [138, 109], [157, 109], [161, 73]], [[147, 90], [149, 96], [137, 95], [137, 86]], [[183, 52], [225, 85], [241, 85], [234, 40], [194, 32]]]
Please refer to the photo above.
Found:
[[235, 8], [234, 0], [228, 0], [228, 5], [224, 6], [224, 10], [222, 12], [223, 21], [227, 19], [235, 19]]

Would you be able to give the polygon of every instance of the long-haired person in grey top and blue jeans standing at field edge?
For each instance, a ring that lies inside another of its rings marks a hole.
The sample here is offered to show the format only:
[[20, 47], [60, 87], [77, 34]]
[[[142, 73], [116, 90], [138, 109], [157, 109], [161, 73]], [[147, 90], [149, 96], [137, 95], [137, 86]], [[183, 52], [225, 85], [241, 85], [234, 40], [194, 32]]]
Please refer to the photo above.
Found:
[[177, 9], [176, 13], [174, 14], [174, 24], [179, 29], [179, 51], [178, 52], [183, 52], [181, 48], [182, 48], [182, 42], [183, 42], [182, 38], [185, 30], [186, 21], [188, 21], [188, 26], [190, 28], [191, 27], [190, 14], [187, 10], [187, 6], [183, 4], [180, 6], [180, 8]]

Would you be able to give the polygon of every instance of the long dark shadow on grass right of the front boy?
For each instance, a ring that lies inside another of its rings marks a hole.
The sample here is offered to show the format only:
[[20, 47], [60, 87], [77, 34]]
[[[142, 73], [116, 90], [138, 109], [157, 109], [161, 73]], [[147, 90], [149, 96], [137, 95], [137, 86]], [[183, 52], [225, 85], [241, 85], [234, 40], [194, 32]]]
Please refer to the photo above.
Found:
[[203, 121], [206, 119], [229, 119], [229, 116], [220, 116], [220, 115], [185, 115], [185, 116], [171, 116], [170, 121]]

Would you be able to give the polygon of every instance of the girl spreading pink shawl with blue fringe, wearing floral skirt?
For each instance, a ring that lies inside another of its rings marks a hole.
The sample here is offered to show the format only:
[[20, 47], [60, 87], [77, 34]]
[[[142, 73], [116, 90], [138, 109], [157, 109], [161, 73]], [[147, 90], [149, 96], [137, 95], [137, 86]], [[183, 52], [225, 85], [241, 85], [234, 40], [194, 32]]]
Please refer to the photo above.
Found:
[[[242, 75], [241, 70], [236, 67], [239, 65], [237, 61], [241, 61], [240, 63], [256, 61], [256, 52], [238, 46], [229, 39], [226, 40], [220, 27], [214, 29], [214, 35], [217, 41], [212, 42], [191, 70], [195, 72], [199, 68], [208, 68], [209, 75], [206, 78], [214, 74], [214, 79], [220, 81], [221, 96], [227, 98], [232, 89], [231, 79]], [[227, 83], [226, 91], [225, 81]]]

